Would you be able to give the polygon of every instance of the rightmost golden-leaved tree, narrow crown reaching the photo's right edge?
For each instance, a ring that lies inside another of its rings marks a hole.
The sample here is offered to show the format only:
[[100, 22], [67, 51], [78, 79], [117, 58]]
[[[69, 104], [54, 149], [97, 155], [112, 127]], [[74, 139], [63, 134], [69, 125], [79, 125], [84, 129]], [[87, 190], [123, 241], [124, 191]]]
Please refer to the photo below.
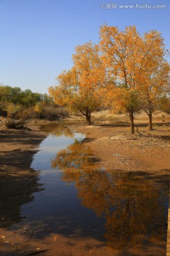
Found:
[[164, 38], [158, 31], [149, 31], [142, 38], [142, 61], [140, 70], [142, 82], [140, 97], [142, 109], [149, 117], [149, 129], [152, 130], [152, 114], [160, 106], [162, 97], [169, 91], [169, 63], [165, 57]]

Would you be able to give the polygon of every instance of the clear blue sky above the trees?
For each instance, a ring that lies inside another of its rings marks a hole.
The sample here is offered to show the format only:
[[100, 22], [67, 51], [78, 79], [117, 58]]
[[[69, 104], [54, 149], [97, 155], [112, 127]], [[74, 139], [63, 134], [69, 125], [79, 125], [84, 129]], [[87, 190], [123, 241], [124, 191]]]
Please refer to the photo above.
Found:
[[[101, 4], [165, 4], [165, 9], [106, 9]], [[98, 42], [99, 26], [157, 29], [170, 50], [170, 0], [0, 0], [0, 82], [47, 92], [72, 66], [74, 47]]]

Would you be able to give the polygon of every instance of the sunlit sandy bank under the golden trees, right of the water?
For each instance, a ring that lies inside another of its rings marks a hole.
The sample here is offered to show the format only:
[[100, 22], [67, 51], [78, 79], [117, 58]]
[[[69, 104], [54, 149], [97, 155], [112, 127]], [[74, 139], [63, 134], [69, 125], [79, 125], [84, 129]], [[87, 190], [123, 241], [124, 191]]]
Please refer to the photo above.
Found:
[[148, 132], [139, 128], [140, 133], [130, 134], [129, 127], [87, 126], [76, 128], [86, 133], [84, 142], [91, 146], [101, 161], [99, 166], [106, 169], [125, 171], [151, 171], [167, 174], [170, 171], [170, 126], [166, 124]]

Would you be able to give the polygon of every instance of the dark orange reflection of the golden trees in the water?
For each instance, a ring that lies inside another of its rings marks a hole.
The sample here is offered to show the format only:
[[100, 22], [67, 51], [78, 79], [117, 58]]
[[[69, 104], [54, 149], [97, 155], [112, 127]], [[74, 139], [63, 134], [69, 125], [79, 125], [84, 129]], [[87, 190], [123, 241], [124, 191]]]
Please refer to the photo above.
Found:
[[89, 147], [77, 141], [57, 154], [52, 167], [76, 183], [83, 206], [105, 218], [109, 245], [166, 240], [168, 189], [147, 173], [98, 171]]

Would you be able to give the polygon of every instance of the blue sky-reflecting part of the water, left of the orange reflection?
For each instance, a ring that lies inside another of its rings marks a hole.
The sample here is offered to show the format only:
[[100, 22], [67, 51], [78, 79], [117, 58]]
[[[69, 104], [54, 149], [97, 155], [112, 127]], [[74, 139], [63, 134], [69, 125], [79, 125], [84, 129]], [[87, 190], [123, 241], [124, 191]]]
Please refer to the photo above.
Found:
[[[75, 186], [76, 182], [69, 180], [68, 177], [65, 179], [63, 169], [55, 165], [57, 154], [67, 149], [70, 144], [74, 145], [75, 142], [81, 147], [82, 144], [79, 142], [85, 138], [85, 135], [71, 132], [62, 124], [45, 126], [42, 129], [49, 135], [40, 144], [40, 151], [35, 154], [31, 167], [40, 171], [43, 190], [34, 193], [34, 200], [22, 206], [21, 215], [26, 216], [22, 225], [29, 225], [30, 228], [38, 226], [52, 228], [62, 235], [83, 233], [86, 236], [89, 235], [90, 228], [91, 235], [102, 239], [103, 234], [100, 231], [104, 229], [104, 223], [96, 218], [94, 211], [82, 206]], [[83, 154], [84, 156], [86, 154], [84, 146]], [[81, 161], [84, 162], [84, 159]], [[74, 166], [77, 167], [76, 164]]]

